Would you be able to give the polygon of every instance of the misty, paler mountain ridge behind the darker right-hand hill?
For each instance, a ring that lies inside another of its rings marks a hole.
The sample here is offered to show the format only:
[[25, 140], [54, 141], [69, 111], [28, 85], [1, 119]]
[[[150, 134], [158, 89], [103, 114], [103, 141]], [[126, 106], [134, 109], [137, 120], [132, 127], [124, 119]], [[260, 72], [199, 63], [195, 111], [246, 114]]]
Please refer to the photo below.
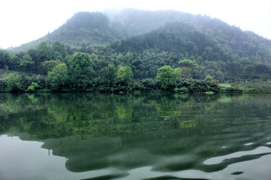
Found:
[[77, 12], [55, 31], [15, 47], [13, 50], [35, 48], [42, 41], [49, 45], [59, 41], [71, 47], [107, 45], [130, 36], [140, 35], [176, 20], [191, 21], [193, 15], [173, 10], [137, 10]]

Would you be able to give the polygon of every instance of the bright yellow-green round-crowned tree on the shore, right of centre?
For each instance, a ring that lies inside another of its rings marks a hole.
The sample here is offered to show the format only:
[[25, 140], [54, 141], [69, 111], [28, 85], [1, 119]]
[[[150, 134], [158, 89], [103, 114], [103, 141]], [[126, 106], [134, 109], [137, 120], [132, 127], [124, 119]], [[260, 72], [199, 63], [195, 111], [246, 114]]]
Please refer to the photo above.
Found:
[[180, 75], [179, 69], [173, 69], [169, 65], [164, 65], [158, 69], [157, 81], [161, 82], [164, 89], [172, 89]]

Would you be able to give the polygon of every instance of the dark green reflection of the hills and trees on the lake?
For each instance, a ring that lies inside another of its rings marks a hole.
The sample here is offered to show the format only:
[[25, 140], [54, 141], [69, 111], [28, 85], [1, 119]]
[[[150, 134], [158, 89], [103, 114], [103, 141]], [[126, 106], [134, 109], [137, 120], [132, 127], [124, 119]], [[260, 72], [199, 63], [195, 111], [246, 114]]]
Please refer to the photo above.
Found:
[[0, 133], [44, 142], [72, 172], [208, 173], [269, 155], [270, 111], [270, 94], [0, 93]]

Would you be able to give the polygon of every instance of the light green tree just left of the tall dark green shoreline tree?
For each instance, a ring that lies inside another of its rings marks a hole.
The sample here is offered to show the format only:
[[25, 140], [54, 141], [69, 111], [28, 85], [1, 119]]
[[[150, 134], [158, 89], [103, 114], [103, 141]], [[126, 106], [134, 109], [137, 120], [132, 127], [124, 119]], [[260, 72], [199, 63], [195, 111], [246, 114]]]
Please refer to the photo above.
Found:
[[68, 67], [65, 63], [60, 63], [48, 72], [48, 81], [52, 89], [57, 90], [66, 83], [68, 79]]

